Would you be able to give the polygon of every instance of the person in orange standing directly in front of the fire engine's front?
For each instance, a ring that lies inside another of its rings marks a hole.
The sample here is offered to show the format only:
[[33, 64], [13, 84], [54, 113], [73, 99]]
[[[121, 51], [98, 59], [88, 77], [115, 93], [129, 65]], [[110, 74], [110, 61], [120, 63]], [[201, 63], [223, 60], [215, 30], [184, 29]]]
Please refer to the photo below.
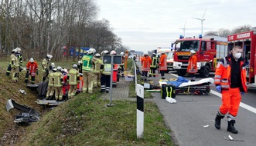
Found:
[[198, 71], [196, 63], [196, 51], [190, 50], [189, 65], [188, 68], [186, 69], [187, 74], [189, 74], [190, 76], [193, 76]]

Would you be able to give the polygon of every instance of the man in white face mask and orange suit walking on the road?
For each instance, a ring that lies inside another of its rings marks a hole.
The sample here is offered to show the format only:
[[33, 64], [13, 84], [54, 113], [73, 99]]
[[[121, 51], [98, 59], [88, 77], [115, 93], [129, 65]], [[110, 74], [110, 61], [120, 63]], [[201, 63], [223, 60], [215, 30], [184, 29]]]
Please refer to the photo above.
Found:
[[227, 114], [227, 131], [237, 134], [234, 128], [241, 95], [247, 92], [245, 62], [241, 57], [243, 49], [240, 46], [234, 46], [232, 53], [223, 58], [217, 64], [215, 72], [215, 85], [217, 91], [221, 92], [222, 105], [215, 118], [215, 127], [220, 129], [220, 121]]

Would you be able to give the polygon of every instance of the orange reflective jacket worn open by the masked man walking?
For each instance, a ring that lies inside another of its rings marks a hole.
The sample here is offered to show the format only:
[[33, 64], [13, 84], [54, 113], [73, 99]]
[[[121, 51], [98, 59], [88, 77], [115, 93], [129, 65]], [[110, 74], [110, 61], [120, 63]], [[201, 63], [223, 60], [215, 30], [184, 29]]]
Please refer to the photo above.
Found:
[[[242, 83], [242, 92], [247, 92], [246, 85], [246, 70], [244, 61], [240, 61], [241, 68], [241, 83]], [[225, 57], [217, 64], [217, 69], [215, 71], [214, 76], [214, 84], [220, 85], [220, 87], [224, 90], [228, 90], [230, 88], [230, 58]]]

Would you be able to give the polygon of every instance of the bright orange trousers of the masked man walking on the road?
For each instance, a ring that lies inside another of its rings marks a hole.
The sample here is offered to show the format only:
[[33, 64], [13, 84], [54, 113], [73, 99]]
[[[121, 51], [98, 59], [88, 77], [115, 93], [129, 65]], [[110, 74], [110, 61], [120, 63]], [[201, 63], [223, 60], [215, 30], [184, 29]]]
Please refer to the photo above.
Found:
[[222, 105], [220, 106], [221, 114], [227, 112], [234, 117], [237, 116], [238, 108], [241, 101], [241, 93], [239, 88], [229, 88], [229, 90], [221, 91]]

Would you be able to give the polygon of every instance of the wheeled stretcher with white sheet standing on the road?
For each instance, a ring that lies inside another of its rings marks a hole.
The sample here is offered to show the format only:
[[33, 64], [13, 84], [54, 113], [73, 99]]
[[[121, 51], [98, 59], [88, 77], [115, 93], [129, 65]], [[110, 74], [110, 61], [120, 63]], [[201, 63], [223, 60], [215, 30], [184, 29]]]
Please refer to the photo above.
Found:
[[[173, 84], [173, 81], [159, 81], [159, 85]], [[210, 84], [213, 84], [213, 78], [203, 78], [199, 81], [183, 82], [176, 86], [176, 94], [187, 95], [210, 95]]]

